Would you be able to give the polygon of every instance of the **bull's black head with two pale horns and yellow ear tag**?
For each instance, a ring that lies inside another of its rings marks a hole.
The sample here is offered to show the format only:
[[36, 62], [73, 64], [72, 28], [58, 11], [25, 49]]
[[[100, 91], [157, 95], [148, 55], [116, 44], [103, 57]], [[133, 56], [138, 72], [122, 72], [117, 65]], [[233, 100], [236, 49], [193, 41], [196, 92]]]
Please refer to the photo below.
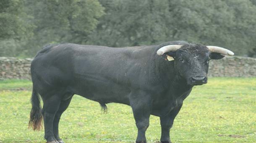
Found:
[[234, 53], [225, 48], [203, 45], [167, 45], [157, 51], [157, 55], [166, 55], [174, 60], [176, 73], [183, 77], [188, 85], [207, 83], [210, 59], [221, 59]]

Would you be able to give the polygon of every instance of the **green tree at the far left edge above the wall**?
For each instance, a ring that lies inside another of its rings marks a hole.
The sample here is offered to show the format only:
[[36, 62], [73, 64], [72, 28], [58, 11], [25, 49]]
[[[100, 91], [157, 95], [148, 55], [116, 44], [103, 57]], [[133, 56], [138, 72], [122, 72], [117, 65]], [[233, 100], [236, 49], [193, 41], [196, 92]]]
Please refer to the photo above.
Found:
[[23, 0], [0, 1], [0, 56], [17, 56], [33, 35], [33, 17], [25, 13]]

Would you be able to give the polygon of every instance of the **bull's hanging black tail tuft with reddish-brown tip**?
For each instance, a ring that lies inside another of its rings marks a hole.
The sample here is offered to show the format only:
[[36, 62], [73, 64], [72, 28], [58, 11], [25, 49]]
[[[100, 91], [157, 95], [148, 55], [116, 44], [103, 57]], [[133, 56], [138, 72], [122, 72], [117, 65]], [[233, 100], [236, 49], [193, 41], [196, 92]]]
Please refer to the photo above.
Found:
[[29, 128], [33, 128], [33, 130], [40, 130], [42, 128], [42, 107], [40, 104], [39, 94], [34, 90], [32, 91], [31, 96], [31, 104], [32, 109], [30, 111], [30, 120], [29, 120]]

